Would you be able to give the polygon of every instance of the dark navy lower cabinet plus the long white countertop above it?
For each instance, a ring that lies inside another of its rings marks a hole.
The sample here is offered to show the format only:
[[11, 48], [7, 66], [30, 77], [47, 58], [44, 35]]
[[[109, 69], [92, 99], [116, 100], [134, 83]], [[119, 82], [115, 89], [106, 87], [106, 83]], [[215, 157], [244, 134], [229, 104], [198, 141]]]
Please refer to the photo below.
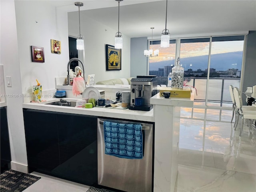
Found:
[[[98, 184], [97, 119], [154, 124], [153, 110], [142, 112], [50, 104], [59, 100], [53, 98], [23, 104], [29, 173], [35, 171], [95, 186]], [[75, 101], [71, 98], [65, 100]], [[150, 150], [153, 150], [152, 146]], [[149, 183], [151, 186], [151, 180]]]

